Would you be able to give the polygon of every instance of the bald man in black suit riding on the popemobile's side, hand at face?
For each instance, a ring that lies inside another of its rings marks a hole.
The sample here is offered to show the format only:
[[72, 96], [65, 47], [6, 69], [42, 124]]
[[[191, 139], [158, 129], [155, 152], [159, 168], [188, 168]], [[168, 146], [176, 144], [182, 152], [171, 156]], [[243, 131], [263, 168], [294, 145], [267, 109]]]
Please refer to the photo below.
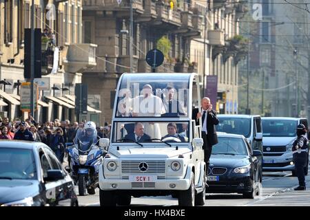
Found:
[[218, 143], [218, 135], [216, 135], [215, 126], [219, 123], [219, 120], [216, 118], [216, 112], [212, 110], [212, 104], [207, 97], [201, 100], [201, 112], [199, 112], [198, 109], [193, 109], [192, 120], [196, 120], [196, 125], [199, 125], [200, 117], [202, 117], [203, 122], [201, 131], [203, 134], [206, 170], [208, 170], [212, 146]]

